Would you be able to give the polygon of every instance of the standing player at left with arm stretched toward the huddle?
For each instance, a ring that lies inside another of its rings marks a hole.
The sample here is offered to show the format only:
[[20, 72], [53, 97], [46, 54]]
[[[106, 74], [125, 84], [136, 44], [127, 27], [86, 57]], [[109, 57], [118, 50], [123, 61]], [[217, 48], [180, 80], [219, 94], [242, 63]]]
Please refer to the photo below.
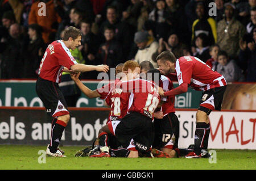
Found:
[[53, 41], [48, 45], [39, 67], [39, 77], [36, 81], [36, 94], [44, 103], [47, 113], [53, 117], [51, 141], [46, 154], [53, 157], [64, 157], [57, 150], [63, 131], [69, 121], [69, 111], [64, 96], [59, 89], [60, 77], [65, 72], [108, 71], [107, 65], [77, 64], [69, 49], [76, 49], [81, 45], [81, 32], [75, 27], [68, 27], [64, 31], [63, 40]]

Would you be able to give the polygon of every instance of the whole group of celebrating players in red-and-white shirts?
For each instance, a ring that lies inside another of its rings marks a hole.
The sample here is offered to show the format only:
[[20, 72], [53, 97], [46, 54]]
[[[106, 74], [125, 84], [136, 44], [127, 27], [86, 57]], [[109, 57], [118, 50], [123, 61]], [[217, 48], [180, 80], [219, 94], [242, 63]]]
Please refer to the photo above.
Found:
[[[165, 51], [156, 58], [158, 69], [154, 69], [147, 60], [140, 65], [129, 60], [115, 68], [115, 81], [90, 90], [80, 81], [80, 72], [106, 72], [109, 68], [106, 65], [77, 64], [69, 48], [75, 49], [80, 44], [80, 32], [69, 27], [64, 35], [63, 40], [54, 41], [47, 48], [36, 83], [36, 92], [46, 110], [51, 109], [49, 114], [53, 117], [48, 155], [64, 157], [58, 145], [70, 116], [57, 83], [62, 71], [67, 71], [86, 96], [105, 99], [110, 108], [108, 122], [98, 132], [93, 145], [77, 151], [77, 157], [210, 157], [207, 150], [210, 133], [208, 115], [212, 110], [221, 110], [226, 89], [226, 81], [221, 74], [199, 58], [187, 56], [177, 59], [172, 52]], [[178, 81], [180, 86], [174, 89], [172, 81]], [[203, 94], [196, 113], [195, 145], [190, 149], [179, 149], [175, 95], [186, 92], [188, 87], [202, 90]]]

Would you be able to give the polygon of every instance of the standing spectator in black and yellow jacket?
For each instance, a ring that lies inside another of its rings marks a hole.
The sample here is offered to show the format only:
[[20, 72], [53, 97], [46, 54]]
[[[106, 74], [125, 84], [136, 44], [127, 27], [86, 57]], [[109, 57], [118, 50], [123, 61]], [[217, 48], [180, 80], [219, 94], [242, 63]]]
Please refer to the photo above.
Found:
[[209, 45], [216, 43], [216, 22], [213, 18], [209, 18], [207, 14], [205, 14], [204, 3], [197, 3], [196, 15], [198, 19], [196, 19], [192, 24], [192, 43], [195, 41], [195, 37], [200, 33], [205, 33], [205, 35], [207, 35]]

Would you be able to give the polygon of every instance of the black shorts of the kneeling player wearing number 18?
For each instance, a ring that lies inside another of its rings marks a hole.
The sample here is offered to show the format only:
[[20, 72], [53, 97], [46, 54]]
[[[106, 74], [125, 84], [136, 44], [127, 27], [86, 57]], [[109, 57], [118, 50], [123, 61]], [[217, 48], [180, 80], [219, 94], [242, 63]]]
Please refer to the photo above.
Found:
[[154, 141], [154, 124], [150, 117], [138, 112], [128, 113], [121, 121], [108, 123], [110, 132], [115, 135], [123, 148], [129, 148], [131, 139], [134, 140], [138, 151], [147, 151]]

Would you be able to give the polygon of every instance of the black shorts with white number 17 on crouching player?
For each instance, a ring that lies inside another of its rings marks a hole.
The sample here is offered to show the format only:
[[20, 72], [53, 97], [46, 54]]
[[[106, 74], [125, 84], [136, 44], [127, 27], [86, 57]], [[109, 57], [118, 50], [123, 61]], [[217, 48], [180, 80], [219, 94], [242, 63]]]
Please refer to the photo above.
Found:
[[172, 124], [177, 119], [174, 112], [168, 113], [163, 119], [154, 119], [155, 138], [153, 148], [173, 149], [175, 144], [175, 135]]

